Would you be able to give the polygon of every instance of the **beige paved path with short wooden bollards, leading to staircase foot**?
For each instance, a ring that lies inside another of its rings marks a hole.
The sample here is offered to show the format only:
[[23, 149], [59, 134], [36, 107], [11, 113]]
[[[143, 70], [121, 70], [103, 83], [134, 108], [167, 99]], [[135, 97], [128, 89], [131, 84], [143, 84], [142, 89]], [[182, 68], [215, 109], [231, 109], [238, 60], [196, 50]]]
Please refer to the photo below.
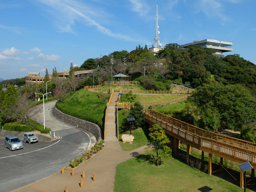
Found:
[[[50, 109], [52, 110], [52, 109]], [[50, 110], [47, 113], [50, 113]], [[36, 114], [35, 114], [36, 116]], [[36, 119], [36, 117], [34, 118]], [[41, 119], [40, 117], [39, 119]], [[42, 121], [42, 120], [41, 120]], [[62, 124], [65, 124], [62, 122]], [[50, 122], [47, 122], [50, 125]], [[47, 126], [46, 125], [46, 126]], [[132, 144], [131, 144], [132, 145]], [[71, 176], [71, 171], [65, 171], [61, 174], [61, 170], [50, 177], [36, 181], [25, 187], [14, 190], [15, 192], [29, 192], [29, 191], [65, 191], [68, 186], [68, 191], [114, 191], [114, 182], [116, 174], [116, 165], [125, 162], [127, 159], [145, 153], [146, 146], [132, 150], [123, 151], [119, 145], [118, 140], [105, 141], [105, 148], [98, 154], [94, 155], [89, 161], [80, 166], [74, 171], [75, 175]], [[82, 171], [85, 172], [83, 179], [84, 187], [80, 187], [80, 180], [82, 179]], [[96, 181], [92, 180], [93, 173], [95, 173]]]

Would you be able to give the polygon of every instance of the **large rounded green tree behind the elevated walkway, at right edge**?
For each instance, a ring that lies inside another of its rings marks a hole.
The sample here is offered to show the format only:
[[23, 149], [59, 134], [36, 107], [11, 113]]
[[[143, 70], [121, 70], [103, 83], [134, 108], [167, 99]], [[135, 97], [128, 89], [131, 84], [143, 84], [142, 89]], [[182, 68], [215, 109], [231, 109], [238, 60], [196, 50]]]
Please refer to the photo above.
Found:
[[195, 106], [195, 124], [206, 130], [234, 130], [256, 120], [256, 101], [241, 85], [204, 84], [188, 100]]

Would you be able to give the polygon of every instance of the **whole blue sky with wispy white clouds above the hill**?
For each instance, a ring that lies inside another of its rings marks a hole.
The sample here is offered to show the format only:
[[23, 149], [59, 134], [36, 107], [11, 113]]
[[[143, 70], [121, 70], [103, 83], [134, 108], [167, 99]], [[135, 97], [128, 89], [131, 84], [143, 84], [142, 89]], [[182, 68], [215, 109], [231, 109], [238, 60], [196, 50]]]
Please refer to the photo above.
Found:
[[228, 54], [256, 63], [255, 0], [8, 0], [0, 1], [0, 78], [150, 47], [156, 5], [162, 44], [232, 42]]

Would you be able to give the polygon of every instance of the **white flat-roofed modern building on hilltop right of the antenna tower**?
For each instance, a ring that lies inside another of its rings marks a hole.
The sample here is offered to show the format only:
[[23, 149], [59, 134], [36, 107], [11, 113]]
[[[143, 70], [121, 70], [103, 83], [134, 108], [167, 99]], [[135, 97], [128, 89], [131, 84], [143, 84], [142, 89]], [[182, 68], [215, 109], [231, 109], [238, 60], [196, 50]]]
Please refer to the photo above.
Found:
[[217, 41], [214, 39], [194, 41], [193, 43], [188, 43], [180, 46], [183, 48], [187, 48], [193, 45], [199, 45], [203, 49], [215, 49], [215, 53], [213, 53], [213, 55], [215, 55], [216, 57], [224, 57], [224, 55], [222, 54], [223, 52], [233, 51], [233, 49], [231, 48], [233, 43]]

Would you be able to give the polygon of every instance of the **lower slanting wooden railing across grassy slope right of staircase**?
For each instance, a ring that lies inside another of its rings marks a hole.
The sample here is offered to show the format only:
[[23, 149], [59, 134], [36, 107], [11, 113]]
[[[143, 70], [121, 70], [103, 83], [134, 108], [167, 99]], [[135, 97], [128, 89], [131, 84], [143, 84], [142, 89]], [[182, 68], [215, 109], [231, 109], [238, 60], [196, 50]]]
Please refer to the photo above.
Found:
[[[164, 101], [149, 101], [149, 102], [140, 102], [140, 105], [143, 107], [148, 107], [148, 106], [156, 106], [156, 105], [166, 105], [168, 103], [174, 103], [174, 102], [178, 102], [184, 99], [187, 99], [188, 95], [183, 95], [181, 97], [178, 98], [173, 98], [173, 99], [168, 99], [168, 100], [164, 100]], [[117, 106], [119, 108], [130, 108], [131, 106], [134, 106], [135, 102], [118, 102]]]

